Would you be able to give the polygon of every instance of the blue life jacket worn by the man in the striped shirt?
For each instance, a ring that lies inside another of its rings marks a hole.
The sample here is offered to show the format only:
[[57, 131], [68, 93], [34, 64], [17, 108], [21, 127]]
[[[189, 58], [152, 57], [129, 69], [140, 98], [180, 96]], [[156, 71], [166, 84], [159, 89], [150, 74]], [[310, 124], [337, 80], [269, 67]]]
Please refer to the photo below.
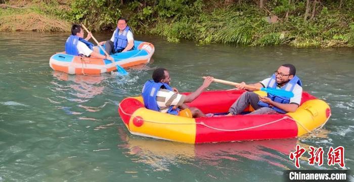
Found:
[[[154, 111], [160, 111], [159, 106], [157, 105], [157, 100], [156, 100], [156, 95], [157, 91], [161, 88], [161, 86], [164, 86], [168, 90], [172, 90], [172, 88], [166, 84], [166, 83], [161, 83], [158, 82], [156, 83], [154, 80], [148, 80], [143, 87], [142, 90], [142, 95], [144, 99], [144, 105], [147, 109], [151, 109]], [[167, 110], [167, 113], [173, 114], [173, 115], [178, 115], [178, 112], [180, 109], [173, 109], [173, 106], [170, 106]]]

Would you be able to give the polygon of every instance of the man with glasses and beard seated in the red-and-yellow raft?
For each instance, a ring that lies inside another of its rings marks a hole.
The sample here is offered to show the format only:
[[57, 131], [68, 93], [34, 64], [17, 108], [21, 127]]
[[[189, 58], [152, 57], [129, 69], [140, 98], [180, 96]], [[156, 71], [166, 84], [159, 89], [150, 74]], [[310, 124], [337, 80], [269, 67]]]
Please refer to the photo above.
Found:
[[255, 94], [254, 89], [245, 88], [245, 82], [241, 82], [236, 87], [246, 89], [240, 98], [230, 107], [228, 116], [240, 114], [248, 105], [254, 109], [249, 114], [276, 114], [295, 112], [301, 102], [302, 87], [301, 80], [295, 76], [296, 69], [292, 64], [283, 64], [272, 77], [264, 79], [258, 83], [249, 84], [265, 88], [284, 89], [294, 94], [294, 97], [287, 98], [269, 94], [267, 97], [261, 97]]

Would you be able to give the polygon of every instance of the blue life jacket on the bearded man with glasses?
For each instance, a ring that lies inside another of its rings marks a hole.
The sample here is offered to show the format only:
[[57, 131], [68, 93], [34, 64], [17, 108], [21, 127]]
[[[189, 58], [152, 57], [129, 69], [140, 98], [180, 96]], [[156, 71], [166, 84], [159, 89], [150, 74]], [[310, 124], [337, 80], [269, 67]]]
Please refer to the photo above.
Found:
[[[292, 92], [292, 90], [294, 89], [295, 85], [299, 84], [300, 86], [302, 86], [301, 80], [299, 77], [294, 76], [289, 82], [287, 82], [284, 86], [282, 86], [280, 89]], [[271, 80], [268, 82], [268, 85], [266, 86], [266, 88], [277, 88], [277, 81], [276, 81], [276, 76], [275, 74], [272, 75]], [[273, 94], [268, 93], [267, 97], [269, 97], [272, 101], [277, 102], [277, 103], [282, 103], [282, 104], [289, 104], [290, 103], [290, 98], [288, 97], [283, 97], [283, 96], [276, 96]], [[258, 105], [261, 107], [270, 107], [269, 104], [264, 103], [259, 101]], [[280, 113], [286, 113], [286, 111], [273, 106], [272, 109], [274, 109], [277, 112]]]

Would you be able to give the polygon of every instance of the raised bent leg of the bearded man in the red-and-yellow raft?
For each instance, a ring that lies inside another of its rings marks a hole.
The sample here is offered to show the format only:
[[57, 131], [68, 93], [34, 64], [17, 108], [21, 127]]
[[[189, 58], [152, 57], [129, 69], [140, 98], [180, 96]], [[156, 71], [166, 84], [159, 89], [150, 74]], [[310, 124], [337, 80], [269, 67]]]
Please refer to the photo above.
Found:
[[239, 99], [230, 107], [228, 115], [240, 114], [248, 105], [251, 105], [253, 109], [258, 109], [259, 105], [258, 95], [254, 92], [244, 92]]

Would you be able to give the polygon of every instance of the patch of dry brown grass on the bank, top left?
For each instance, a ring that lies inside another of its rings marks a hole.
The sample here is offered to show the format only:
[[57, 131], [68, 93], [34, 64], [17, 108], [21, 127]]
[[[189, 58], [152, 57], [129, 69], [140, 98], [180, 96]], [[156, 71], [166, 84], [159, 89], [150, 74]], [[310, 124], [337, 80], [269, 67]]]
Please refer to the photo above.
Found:
[[[2, 2], [4, 3], [4, 2]], [[0, 31], [70, 31], [70, 7], [57, 1], [9, 1], [0, 8]]]

